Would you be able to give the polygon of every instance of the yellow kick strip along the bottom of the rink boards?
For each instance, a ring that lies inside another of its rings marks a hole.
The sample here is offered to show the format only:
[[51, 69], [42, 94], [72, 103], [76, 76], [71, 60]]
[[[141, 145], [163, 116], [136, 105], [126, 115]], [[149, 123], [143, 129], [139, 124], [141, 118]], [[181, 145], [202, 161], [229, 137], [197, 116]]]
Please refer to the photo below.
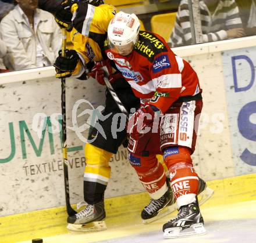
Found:
[[[208, 187], [212, 188], [215, 192], [212, 198], [202, 206], [201, 210], [203, 215], [205, 208], [210, 211], [211, 208], [214, 208], [216, 206], [223, 206], [224, 208], [226, 207], [228, 209], [229, 205], [232, 206], [233, 204], [237, 204], [237, 202], [248, 202], [248, 204], [251, 204], [253, 206], [253, 211], [251, 211], [251, 213], [248, 213], [248, 211], [250, 211], [249, 208], [248, 210], [244, 208], [241, 210], [247, 211], [247, 216], [251, 215], [249, 217], [253, 217], [254, 219], [256, 219], [254, 210], [256, 206], [256, 174], [230, 177], [222, 180], [213, 180], [211, 182], [208, 182], [207, 184]], [[161, 225], [156, 226], [155, 223], [151, 223], [145, 226], [141, 223], [140, 212], [141, 209], [143, 209], [143, 207], [148, 203], [148, 201], [149, 197], [146, 193], [125, 195], [122, 197], [106, 199], [106, 224], [108, 229], [123, 226], [128, 227], [128, 229], [130, 227], [130, 230], [122, 230], [121, 228], [115, 235], [108, 234], [108, 232], [105, 233], [104, 231], [105, 236], [102, 236], [99, 239], [104, 240], [105, 237], [105, 240], [108, 240], [111, 238], [126, 237], [133, 234], [139, 234], [144, 231], [157, 231], [158, 234], [160, 234]], [[29, 241], [33, 238], [44, 238], [51, 235], [67, 234], [69, 233], [69, 231], [66, 229], [65, 210], [65, 207], [61, 206], [53, 209], [44, 209], [41, 211], [34, 211], [30, 213], [22, 213], [13, 216], [2, 217], [0, 222], [0, 242], [14, 243], [19, 241]], [[211, 220], [213, 220], [212, 218], [217, 219], [219, 217], [220, 219], [222, 219], [222, 217], [224, 217], [227, 211], [223, 212], [223, 209], [219, 210], [222, 211], [216, 211], [216, 215], [211, 215]], [[172, 217], [174, 217], [175, 214], [176, 212], [172, 213]], [[230, 212], [230, 215], [225, 215], [225, 217], [226, 219], [230, 219], [232, 217], [236, 217], [237, 215], [240, 215], [240, 213]], [[208, 218], [206, 217], [205, 219]], [[136, 224], [136, 227], [134, 227], [133, 224]], [[133, 230], [131, 231], [131, 229]], [[80, 238], [82, 235], [84, 235], [84, 241], [81, 242], [94, 242], [94, 237], [90, 233], [71, 234], [80, 235]], [[100, 236], [100, 233], [98, 236]], [[87, 241], [87, 238], [90, 239], [90, 241]], [[73, 240], [76, 241], [75, 239], [76, 238], [74, 238]], [[63, 240], [65, 240], [65, 237], [63, 238]], [[97, 239], [95, 239], [95, 241], [96, 240]], [[45, 242], [47, 243], [47, 241]], [[60, 241], [56, 240], [52, 242], [57, 243]]]

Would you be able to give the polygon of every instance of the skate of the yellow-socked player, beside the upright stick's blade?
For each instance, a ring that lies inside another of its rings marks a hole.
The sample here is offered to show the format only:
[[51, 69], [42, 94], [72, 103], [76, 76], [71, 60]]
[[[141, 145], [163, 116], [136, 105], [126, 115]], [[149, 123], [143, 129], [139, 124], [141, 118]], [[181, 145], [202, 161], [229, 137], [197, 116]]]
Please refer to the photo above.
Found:
[[78, 204], [77, 208], [81, 208], [83, 205], [86, 205], [86, 208], [76, 213], [76, 215], [67, 217], [67, 229], [73, 231], [106, 230], [104, 201], [94, 205], [83, 202], [82, 205], [81, 203]]

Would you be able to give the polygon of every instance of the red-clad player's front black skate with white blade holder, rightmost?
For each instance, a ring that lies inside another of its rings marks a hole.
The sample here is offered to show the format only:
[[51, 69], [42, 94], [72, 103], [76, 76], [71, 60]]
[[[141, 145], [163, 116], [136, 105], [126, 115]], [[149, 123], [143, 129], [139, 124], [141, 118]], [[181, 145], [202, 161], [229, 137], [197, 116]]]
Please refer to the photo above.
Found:
[[205, 233], [204, 219], [201, 216], [198, 201], [181, 206], [175, 219], [163, 224], [165, 238], [182, 238]]

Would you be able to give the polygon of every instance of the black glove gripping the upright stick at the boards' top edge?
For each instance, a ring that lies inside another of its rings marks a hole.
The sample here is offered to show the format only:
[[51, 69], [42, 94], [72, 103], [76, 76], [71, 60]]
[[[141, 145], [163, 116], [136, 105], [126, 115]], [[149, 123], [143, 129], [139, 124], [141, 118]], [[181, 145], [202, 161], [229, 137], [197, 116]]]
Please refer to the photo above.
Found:
[[59, 56], [56, 58], [54, 67], [56, 70], [56, 78], [68, 78], [79, 62], [79, 55], [75, 50], [65, 50], [65, 57], [62, 56], [62, 51], [59, 50]]

